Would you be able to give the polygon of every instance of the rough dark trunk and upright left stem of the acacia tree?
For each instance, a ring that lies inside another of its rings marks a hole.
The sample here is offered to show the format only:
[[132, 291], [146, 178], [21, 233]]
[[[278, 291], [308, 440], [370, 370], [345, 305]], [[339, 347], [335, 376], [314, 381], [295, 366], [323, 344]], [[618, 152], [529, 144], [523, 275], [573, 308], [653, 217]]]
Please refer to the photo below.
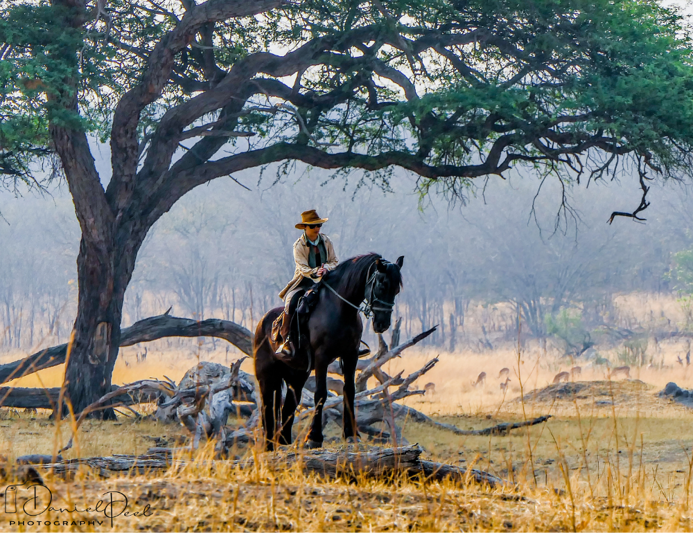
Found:
[[[62, 18], [66, 28], [78, 30], [85, 24], [84, 0], [55, 0], [53, 5], [60, 8], [55, 16]], [[116, 217], [105, 197], [87, 135], [78, 122], [77, 46], [67, 41], [62, 45], [60, 53], [67, 58], [71, 74], [65, 78], [64, 87], [47, 93], [51, 107], [60, 109], [63, 116], [51, 120], [49, 129], [82, 230], [77, 258], [78, 312], [65, 371], [65, 400], [73, 410], [89, 405], [111, 386], [124, 292], [116, 287], [116, 260], [123, 258], [124, 252], [115, 246]], [[99, 415], [115, 418], [112, 410]]]

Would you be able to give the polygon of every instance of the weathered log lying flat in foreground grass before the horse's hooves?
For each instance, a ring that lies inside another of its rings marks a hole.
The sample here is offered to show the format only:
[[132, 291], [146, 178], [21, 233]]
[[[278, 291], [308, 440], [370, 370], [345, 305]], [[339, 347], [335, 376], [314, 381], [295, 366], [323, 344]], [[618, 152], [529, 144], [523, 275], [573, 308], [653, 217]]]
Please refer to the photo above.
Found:
[[[49, 464], [36, 464], [35, 469], [52, 472], [58, 476], [71, 476], [80, 467], [88, 467], [99, 476], [109, 477], [111, 472], [146, 473], [165, 470], [170, 467], [182, 468], [190, 462], [183, 458], [174, 458], [166, 449], [148, 455], [112, 455], [109, 457], [92, 457], [71, 459]], [[426, 480], [450, 479], [454, 482], [475, 481], [491, 487], [511, 484], [498, 476], [477, 469], [467, 470], [434, 461], [421, 460], [423, 449], [418, 444], [399, 448], [374, 448], [368, 451], [349, 451], [347, 449], [318, 449], [288, 451], [287, 453], [266, 453], [258, 455], [265, 467], [274, 471], [285, 471], [294, 464], [300, 464], [306, 474], [317, 474], [321, 478], [335, 479], [340, 477], [358, 480], [366, 478], [394, 479], [399, 475]], [[211, 461], [215, 464], [215, 461]], [[224, 461], [225, 468], [252, 469], [254, 458]]]

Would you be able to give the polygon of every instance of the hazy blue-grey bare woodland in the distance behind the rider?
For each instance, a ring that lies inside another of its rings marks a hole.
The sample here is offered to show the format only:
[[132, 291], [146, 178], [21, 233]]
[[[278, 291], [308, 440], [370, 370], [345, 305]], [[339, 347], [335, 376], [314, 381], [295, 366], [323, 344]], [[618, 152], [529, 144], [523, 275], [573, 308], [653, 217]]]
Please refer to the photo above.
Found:
[[[518, 310], [525, 334], [536, 338], [554, 334], [552, 324], [566, 309], [587, 329], [613, 322], [619, 293], [676, 291], [687, 257], [681, 251], [693, 244], [687, 191], [676, 183], [652, 190], [645, 224], [607, 224], [624, 201], [618, 186], [572, 190], [574, 218], [561, 219], [556, 230], [558, 195], [542, 188], [535, 200], [532, 179], [489, 183], [471, 191], [466, 205], [419, 204], [405, 174], [392, 192], [356, 188], [304, 167], [279, 183], [271, 170], [262, 179], [251, 172], [236, 179], [249, 190], [231, 179], [212, 182], [157, 222], [126, 293], [125, 325], [173, 305], [179, 316], [216, 316], [252, 328], [280, 305], [277, 293], [292, 275], [291, 245], [299, 236], [293, 226], [308, 208], [330, 218], [324, 231], [340, 259], [367, 251], [405, 255], [405, 290], [395, 313], [406, 334], [439, 324], [429, 343], [450, 349], [483, 345], [492, 332], [514, 338]], [[60, 188], [52, 194], [0, 196], [4, 350], [64, 341], [72, 326], [80, 232], [69, 196]], [[507, 312], [492, 316], [500, 304]], [[470, 305], [482, 316], [473, 327], [465, 321]]]

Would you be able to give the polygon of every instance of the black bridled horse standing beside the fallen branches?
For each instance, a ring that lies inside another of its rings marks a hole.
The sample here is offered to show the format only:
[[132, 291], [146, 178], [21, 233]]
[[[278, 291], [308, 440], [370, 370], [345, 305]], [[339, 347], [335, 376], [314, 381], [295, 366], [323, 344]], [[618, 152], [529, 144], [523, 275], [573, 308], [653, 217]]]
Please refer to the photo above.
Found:
[[[324, 275], [317, 303], [308, 320], [310, 345], [297, 351], [295, 365], [283, 363], [274, 351], [271, 330], [274, 318], [282, 307], [268, 311], [255, 330], [253, 353], [255, 376], [262, 395], [262, 420], [267, 450], [273, 450], [277, 437], [277, 421], [281, 421], [279, 444], [292, 442], [291, 426], [301, 399], [301, 391], [311, 370], [315, 370], [315, 415], [310, 424], [306, 446], [322, 446], [322, 408], [327, 399], [327, 367], [341, 359], [344, 373], [344, 438], [358, 437], [353, 399], [356, 393], [354, 374], [358, 362], [358, 347], [363, 332], [360, 305], [365, 314], [373, 314], [373, 329], [383, 333], [390, 326], [394, 298], [402, 287], [400, 269], [404, 257], [387, 262], [377, 253], [348, 259]], [[295, 367], [295, 368], [294, 368]], [[282, 382], [286, 397], [281, 401]]]

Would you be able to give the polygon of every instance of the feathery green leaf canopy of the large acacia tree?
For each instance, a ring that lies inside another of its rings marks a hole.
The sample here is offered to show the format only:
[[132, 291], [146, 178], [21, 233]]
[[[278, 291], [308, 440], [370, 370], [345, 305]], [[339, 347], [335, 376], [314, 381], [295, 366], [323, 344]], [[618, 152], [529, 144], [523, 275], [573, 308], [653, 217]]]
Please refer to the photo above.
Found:
[[[107, 139], [117, 103], [185, 13], [177, 0], [112, 0], [106, 24], [45, 0], [0, 6], [0, 162], [8, 161], [2, 172], [19, 174], [50, 152], [51, 123]], [[75, 17], [84, 19], [81, 27], [65, 24]], [[250, 147], [297, 143], [374, 158], [396, 152], [389, 161], [435, 167], [419, 183], [423, 194], [464, 195], [472, 178], [511, 164], [568, 181], [561, 169], [602, 177], [624, 154], [643, 174], [688, 173], [689, 35], [674, 10], [644, 0], [308, 0], [220, 21], [177, 54], [160, 98], [141, 114], [141, 139], [166, 111], [252, 54], [315, 39], [322, 44], [301, 71], [304, 103], [279, 106], [262, 91], [247, 100], [234, 125], [256, 134]], [[427, 39], [439, 44], [431, 48]], [[78, 108], [66, 111], [75, 95], [65, 80], [73, 78]], [[238, 149], [247, 142], [228, 140]], [[379, 164], [358, 161], [387, 184]]]

